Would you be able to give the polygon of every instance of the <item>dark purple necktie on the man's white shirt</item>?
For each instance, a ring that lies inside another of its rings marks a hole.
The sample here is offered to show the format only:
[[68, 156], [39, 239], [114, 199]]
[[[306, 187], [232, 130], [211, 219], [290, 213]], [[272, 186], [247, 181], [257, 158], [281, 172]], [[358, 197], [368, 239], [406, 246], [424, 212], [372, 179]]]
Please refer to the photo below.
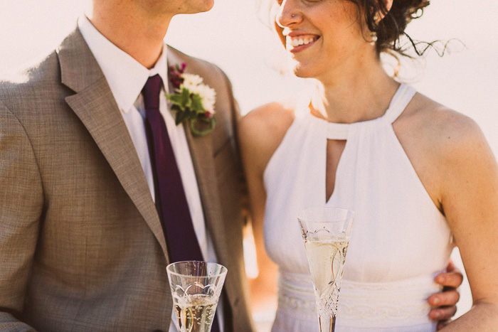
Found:
[[[171, 262], [203, 260], [168, 130], [159, 112], [161, 85], [161, 77], [154, 75], [149, 77], [142, 90], [157, 213], [163, 225]], [[215, 316], [211, 332], [219, 331], [218, 316]]]

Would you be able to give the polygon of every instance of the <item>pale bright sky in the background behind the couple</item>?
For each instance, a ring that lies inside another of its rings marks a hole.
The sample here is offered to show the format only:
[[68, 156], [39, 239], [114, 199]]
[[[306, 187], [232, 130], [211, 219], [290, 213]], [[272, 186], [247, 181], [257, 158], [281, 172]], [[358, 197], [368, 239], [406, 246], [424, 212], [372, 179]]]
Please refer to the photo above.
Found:
[[[55, 48], [75, 27], [84, 1], [0, 0], [0, 75]], [[408, 70], [409, 82], [475, 119], [497, 155], [498, 1], [431, 3], [423, 17], [408, 26], [410, 36], [423, 41], [457, 38], [465, 48], [452, 43], [452, 52], [443, 58], [429, 52], [416, 70]], [[243, 114], [302, 88], [302, 82], [275, 70], [282, 63], [281, 46], [258, 20], [255, 0], [215, 0], [208, 13], [177, 16], [166, 41], [220, 66], [231, 78]], [[459, 314], [470, 308], [469, 294], [465, 284]]]

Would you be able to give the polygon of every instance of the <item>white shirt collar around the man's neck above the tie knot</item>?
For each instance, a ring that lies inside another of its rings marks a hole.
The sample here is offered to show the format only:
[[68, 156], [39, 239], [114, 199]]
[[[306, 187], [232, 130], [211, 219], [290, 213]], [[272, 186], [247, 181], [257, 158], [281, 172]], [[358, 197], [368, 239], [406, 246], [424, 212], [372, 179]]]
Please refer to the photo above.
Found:
[[149, 76], [159, 74], [164, 90], [168, 92], [166, 46], [154, 68], [148, 69], [105, 38], [86, 16], [80, 16], [78, 28], [100, 65], [121, 112], [129, 112]]

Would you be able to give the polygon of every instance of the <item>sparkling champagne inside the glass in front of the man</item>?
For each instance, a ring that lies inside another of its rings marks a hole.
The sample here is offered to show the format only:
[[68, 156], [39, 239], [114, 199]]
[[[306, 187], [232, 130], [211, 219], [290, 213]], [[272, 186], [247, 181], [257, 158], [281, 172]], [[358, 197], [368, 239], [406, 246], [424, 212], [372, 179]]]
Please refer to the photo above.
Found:
[[181, 332], [208, 332], [211, 330], [218, 299], [196, 294], [176, 299], [174, 309]]

